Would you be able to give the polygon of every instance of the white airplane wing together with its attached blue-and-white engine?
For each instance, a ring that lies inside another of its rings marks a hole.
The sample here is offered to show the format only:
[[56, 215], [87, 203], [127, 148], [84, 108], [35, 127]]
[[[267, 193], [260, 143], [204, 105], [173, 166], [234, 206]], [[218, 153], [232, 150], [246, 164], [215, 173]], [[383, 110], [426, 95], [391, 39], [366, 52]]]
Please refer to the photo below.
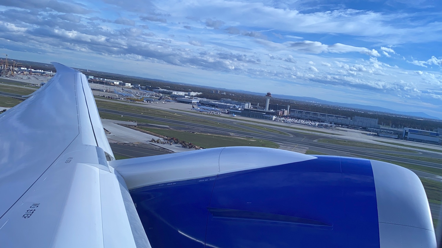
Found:
[[391, 163], [222, 147], [115, 160], [88, 81], [0, 115], [2, 247], [433, 248], [419, 178]]

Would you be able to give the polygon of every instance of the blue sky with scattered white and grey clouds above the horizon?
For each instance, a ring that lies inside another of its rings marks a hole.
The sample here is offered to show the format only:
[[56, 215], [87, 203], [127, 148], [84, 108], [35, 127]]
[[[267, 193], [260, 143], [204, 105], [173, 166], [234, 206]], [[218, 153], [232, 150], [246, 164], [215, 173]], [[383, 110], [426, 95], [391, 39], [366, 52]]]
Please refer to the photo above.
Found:
[[2, 0], [0, 56], [442, 118], [439, 0]]

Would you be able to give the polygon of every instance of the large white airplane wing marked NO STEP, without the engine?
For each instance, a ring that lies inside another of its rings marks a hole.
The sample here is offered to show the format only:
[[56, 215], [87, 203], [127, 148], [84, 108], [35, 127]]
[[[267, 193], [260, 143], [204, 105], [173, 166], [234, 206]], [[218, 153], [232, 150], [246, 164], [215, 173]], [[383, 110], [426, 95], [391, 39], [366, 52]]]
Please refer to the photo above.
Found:
[[57, 74], [0, 115], [2, 247], [146, 247], [84, 74]]

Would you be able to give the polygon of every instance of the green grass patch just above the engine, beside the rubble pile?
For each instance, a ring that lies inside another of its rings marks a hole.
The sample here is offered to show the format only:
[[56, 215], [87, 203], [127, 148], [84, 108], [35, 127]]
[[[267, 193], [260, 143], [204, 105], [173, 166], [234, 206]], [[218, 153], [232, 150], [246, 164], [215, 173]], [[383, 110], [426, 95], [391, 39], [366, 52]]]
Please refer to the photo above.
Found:
[[164, 130], [164, 129], [145, 128], [145, 127], [141, 127], [141, 129], [168, 137], [175, 137], [181, 141], [190, 142], [192, 144], [204, 148], [225, 147], [225, 146], [259, 146], [259, 147], [270, 147], [270, 148], [279, 147], [279, 145], [274, 142], [259, 140], [255, 138], [236, 138], [236, 137], [228, 137], [228, 136], [213, 135], [213, 134], [188, 133], [188, 132], [175, 131], [175, 130]]

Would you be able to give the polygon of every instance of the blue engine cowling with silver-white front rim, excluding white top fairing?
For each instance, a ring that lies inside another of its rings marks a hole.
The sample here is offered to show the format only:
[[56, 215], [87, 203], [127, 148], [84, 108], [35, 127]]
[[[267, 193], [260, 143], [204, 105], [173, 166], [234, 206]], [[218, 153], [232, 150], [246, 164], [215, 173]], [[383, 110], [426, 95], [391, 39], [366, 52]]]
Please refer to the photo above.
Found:
[[[425, 192], [419, 179], [422, 189], [407, 179], [417, 178], [411, 171], [368, 159], [316, 157], [130, 193], [153, 248], [433, 244], [431, 215], [428, 221], [429, 211], [420, 210], [428, 206]], [[406, 181], [398, 183], [394, 176], [401, 173]], [[403, 184], [411, 185], [403, 187], [405, 195], [395, 189]], [[407, 200], [410, 193], [419, 196]], [[398, 204], [410, 205], [406, 201], [420, 205], [391, 216], [400, 212]]]

